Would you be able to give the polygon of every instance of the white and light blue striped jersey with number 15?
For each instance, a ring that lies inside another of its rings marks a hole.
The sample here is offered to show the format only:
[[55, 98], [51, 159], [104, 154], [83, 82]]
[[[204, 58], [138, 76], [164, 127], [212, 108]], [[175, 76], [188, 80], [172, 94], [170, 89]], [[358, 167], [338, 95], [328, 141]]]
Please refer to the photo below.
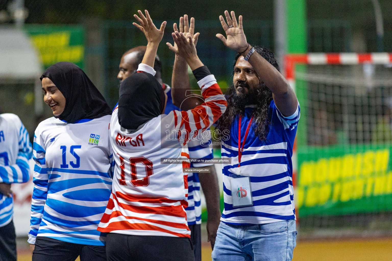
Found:
[[98, 224], [112, 187], [111, 115], [67, 123], [42, 121], [34, 134], [29, 243], [37, 236], [105, 245]]

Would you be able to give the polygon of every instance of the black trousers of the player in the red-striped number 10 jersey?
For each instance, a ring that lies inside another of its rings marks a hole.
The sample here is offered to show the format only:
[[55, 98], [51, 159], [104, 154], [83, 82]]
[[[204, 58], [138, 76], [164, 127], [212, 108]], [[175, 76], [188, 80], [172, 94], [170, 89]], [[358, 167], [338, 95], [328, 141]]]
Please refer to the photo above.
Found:
[[189, 238], [108, 233], [108, 261], [194, 261]]

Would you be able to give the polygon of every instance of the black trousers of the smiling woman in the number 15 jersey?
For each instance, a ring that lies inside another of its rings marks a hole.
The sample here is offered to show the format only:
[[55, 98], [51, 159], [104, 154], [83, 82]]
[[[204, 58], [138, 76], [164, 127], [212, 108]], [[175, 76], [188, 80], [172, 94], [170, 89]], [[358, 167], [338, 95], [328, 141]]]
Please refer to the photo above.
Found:
[[105, 246], [81, 245], [38, 236], [32, 261], [106, 261]]

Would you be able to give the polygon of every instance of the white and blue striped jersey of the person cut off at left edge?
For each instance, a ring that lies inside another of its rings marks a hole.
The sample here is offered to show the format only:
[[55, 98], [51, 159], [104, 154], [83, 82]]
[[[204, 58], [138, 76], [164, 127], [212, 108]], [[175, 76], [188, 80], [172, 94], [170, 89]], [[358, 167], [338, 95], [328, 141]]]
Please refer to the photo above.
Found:
[[[19, 117], [12, 113], [0, 114], [0, 183], [29, 181], [31, 155], [29, 133]], [[0, 227], [11, 222], [13, 205], [13, 197], [0, 192]]]

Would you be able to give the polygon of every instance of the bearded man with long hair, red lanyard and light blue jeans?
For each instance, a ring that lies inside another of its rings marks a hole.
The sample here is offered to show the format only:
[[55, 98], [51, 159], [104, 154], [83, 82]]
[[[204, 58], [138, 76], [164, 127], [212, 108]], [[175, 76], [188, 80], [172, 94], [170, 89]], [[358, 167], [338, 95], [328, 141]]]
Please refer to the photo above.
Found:
[[292, 149], [299, 120], [297, 97], [280, 74], [274, 54], [251, 46], [234, 12], [220, 21], [237, 52], [227, 109], [217, 122], [222, 138], [224, 210], [214, 261], [292, 260], [296, 223]]

